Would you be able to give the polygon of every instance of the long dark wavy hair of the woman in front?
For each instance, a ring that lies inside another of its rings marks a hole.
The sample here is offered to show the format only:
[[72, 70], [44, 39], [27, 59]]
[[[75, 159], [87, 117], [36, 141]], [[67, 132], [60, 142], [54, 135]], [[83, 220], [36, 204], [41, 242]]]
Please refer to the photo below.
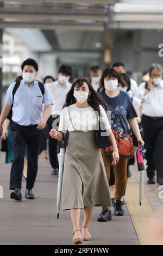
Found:
[[74, 88], [82, 87], [84, 83], [87, 84], [87, 86], [89, 87], [89, 90], [91, 92], [91, 94], [89, 96], [89, 101], [88, 101], [89, 105], [95, 111], [98, 111], [98, 113], [100, 114], [99, 105], [102, 105], [106, 110], [106, 108], [107, 108], [106, 102], [103, 99], [103, 97], [99, 93], [97, 93], [95, 89], [93, 89], [92, 84], [89, 81], [87, 81], [85, 78], [80, 78], [72, 84], [70, 91], [67, 93], [66, 101], [65, 101], [63, 108], [76, 103], [76, 98], [73, 96]]

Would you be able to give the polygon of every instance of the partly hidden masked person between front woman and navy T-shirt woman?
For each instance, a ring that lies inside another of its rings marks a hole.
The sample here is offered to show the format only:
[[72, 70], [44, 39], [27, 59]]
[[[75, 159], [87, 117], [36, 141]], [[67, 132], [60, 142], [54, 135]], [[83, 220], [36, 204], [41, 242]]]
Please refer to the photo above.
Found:
[[96, 92], [99, 93], [99, 83], [101, 80], [102, 70], [100, 66], [91, 66], [90, 68], [90, 75], [91, 75], [91, 84]]

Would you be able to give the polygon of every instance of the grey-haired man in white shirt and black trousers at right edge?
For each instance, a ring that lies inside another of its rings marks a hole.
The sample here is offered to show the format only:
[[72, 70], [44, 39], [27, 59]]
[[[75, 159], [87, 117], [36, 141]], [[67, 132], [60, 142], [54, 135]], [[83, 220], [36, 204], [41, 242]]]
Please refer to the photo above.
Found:
[[155, 170], [157, 182], [163, 185], [163, 69], [153, 64], [150, 69], [148, 87], [142, 102], [142, 125], [147, 149], [148, 184], [154, 184]]

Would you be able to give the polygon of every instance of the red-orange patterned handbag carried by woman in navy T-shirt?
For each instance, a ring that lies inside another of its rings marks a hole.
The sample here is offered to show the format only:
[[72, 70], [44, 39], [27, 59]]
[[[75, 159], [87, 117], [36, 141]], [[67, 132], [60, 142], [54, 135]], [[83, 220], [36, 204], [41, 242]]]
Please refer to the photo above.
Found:
[[[130, 159], [134, 156], [134, 145], [133, 145], [133, 137], [130, 134], [123, 134], [112, 130], [114, 137], [116, 139], [118, 152], [120, 155], [120, 159]], [[105, 149], [105, 153], [108, 156], [112, 156], [113, 148], [112, 146]]]

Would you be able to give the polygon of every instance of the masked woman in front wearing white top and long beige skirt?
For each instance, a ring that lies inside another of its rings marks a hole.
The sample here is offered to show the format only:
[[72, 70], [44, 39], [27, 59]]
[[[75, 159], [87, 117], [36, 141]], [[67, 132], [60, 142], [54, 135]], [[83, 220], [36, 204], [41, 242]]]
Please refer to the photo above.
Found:
[[[95, 130], [99, 115], [114, 147], [112, 164], [117, 164], [119, 155], [102, 105], [105, 106], [105, 101], [90, 82], [77, 80], [67, 94], [58, 131], [52, 129], [50, 132], [51, 137], [58, 141], [64, 139], [67, 130], [70, 132], [62, 181], [62, 210], [70, 210], [74, 244], [91, 239], [89, 225], [93, 206], [111, 206], [104, 162], [101, 150], [96, 146]], [[84, 209], [82, 233], [80, 209]]]

